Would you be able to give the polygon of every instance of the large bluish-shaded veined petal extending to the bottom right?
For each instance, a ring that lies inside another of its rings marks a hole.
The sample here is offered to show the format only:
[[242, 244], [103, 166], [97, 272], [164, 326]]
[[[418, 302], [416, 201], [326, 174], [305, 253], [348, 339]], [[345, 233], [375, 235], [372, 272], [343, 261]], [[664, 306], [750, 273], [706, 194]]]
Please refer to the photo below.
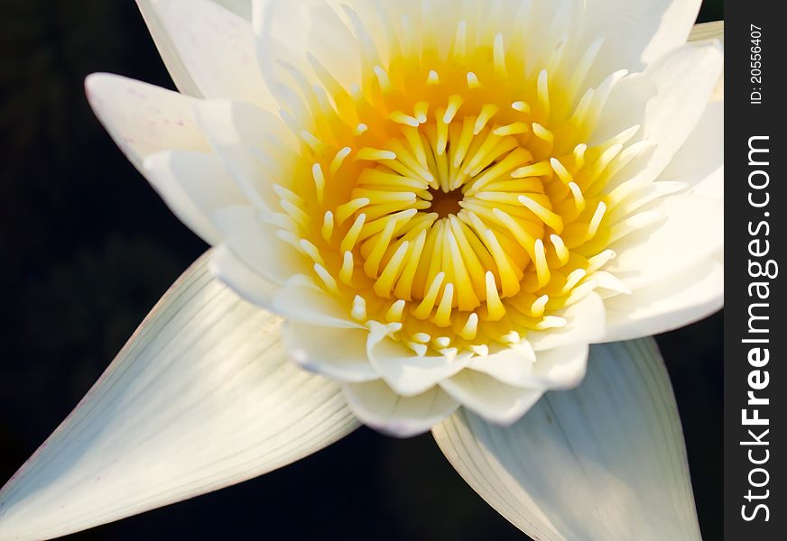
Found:
[[432, 433], [465, 481], [542, 541], [699, 541], [681, 421], [652, 339], [593, 346], [575, 390], [513, 426], [460, 410]]

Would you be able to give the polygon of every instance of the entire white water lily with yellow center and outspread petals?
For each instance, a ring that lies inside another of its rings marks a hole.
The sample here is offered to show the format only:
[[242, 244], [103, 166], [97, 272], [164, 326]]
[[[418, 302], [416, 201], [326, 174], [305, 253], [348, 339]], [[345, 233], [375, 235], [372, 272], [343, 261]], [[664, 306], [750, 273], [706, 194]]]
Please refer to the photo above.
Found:
[[699, 538], [652, 341], [589, 346], [722, 304], [699, 1], [139, 4], [183, 94], [94, 75], [88, 98], [216, 248], [0, 492], [0, 536], [216, 490], [360, 421], [431, 429], [536, 538]]

